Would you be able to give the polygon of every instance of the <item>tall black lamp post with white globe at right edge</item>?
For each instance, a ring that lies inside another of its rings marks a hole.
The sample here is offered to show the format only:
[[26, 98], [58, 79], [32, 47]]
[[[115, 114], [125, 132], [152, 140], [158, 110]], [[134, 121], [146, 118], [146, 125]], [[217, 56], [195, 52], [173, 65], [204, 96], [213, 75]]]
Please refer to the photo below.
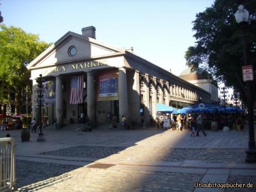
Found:
[[[247, 41], [246, 41], [246, 28], [248, 26], [249, 12], [244, 9], [243, 5], [238, 6], [235, 14], [236, 21], [242, 30], [242, 39], [244, 45], [244, 66], [247, 66]], [[246, 81], [247, 90], [247, 110], [248, 110], [248, 125], [249, 125], [249, 148], [246, 150], [246, 163], [256, 163], [256, 149], [254, 140], [254, 127], [253, 127], [253, 95], [252, 95], [252, 81]]]

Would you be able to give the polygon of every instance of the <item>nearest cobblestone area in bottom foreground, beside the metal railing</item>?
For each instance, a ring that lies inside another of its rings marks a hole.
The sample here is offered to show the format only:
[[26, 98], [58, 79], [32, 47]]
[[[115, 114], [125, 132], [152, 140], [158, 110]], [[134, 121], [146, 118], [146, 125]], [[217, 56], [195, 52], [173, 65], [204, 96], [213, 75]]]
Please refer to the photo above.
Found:
[[[194, 182], [203, 177], [203, 174], [117, 171], [87, 167], [73, 167], [75, 170], [60, 174], [68, 171], [71, 166], [45, 165], [37, 162], [33, 169], [38, 171], [31, 171], [26, 178], [25, 170], [20, 167], [25, 164], [31, 166], [30, 162], [17, 162], [18, 182], [25, 191], [193, 191]], [[44, 173], [50, 173], [47, 179], [44, 174], [40, 174], [43, 170]]]

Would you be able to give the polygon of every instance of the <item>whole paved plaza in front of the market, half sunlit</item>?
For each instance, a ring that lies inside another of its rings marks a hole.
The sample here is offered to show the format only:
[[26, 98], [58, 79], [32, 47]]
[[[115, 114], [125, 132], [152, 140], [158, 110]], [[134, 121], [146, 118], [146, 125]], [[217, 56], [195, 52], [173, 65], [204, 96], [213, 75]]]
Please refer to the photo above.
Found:
[[[194, 182], [251, 182], [256, 165], [244, 163], [248, 130], [206, 131], [206, 137], [143, 129], [75, 131], [46, 127], [46, 142], [16, 146], [16, 176], [23, 191], [255, 191], [254, 188], [194, 188]], [[4, 137], [6, 131], [0, 132]], [[18, 189], [17, 189], [18, 190]]]

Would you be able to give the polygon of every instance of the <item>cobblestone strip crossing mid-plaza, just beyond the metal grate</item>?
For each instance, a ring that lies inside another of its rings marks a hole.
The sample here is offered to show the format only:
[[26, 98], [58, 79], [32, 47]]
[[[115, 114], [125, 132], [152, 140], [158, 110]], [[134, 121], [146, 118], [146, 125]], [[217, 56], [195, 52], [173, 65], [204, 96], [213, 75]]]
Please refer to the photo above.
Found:
[[[211, 148], [146, 148], [146, 147], [105, 147], [77, 146], [60, 150], [48, 151], [45, 155], [65, 157], [127, 159], [136, 161], [180, 162], [199, 160], [207, 163], [243, 163], [245, 149], [211, 149]], [[149, 155], [150, 154], [150, 155]]]

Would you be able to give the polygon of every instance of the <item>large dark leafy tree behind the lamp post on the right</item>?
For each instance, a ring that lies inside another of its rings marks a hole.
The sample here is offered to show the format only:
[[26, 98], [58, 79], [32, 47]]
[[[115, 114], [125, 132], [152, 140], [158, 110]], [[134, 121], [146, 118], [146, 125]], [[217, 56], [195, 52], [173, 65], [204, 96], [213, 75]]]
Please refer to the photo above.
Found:
[[[188, 66], [202, 67], [209, 71], [219, 82], [234, 87], [246, 95], [246, 86], [242, 77], [243, 44], [242, 33], [235, 20], [238, 6], [243, 4], [249, 11], [247, 28], [248, 65], [254, 68], [256, 84], [256, 4], [255, 0], [216, 0], [202, 13], [196, 14], [193, 21], [196, 45], [188, 47], [185, 54]], [[253, 92], [255, 93], [255, 86]], [[253, 94], [255, 96], [255, 94]], [[254, 97], [255, 100], [256, 97]]]

